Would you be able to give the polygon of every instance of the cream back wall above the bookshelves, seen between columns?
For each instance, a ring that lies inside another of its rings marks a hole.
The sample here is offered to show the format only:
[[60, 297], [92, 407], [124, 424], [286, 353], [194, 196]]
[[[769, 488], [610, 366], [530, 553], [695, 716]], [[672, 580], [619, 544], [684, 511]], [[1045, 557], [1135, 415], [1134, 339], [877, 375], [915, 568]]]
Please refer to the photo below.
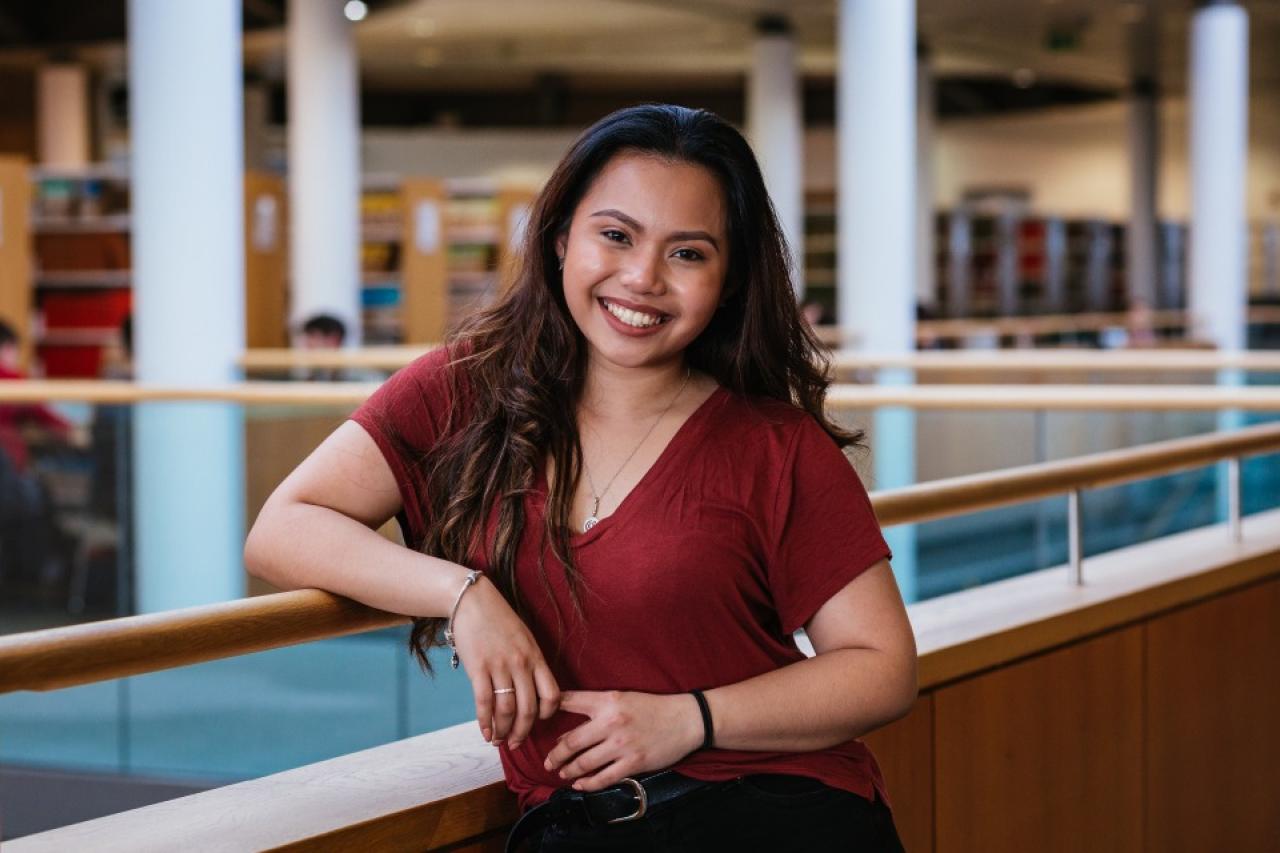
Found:
[[[1280, 110], [1254, 97], [1249, 114], [1248, 215], [1280, 215]], [[1060, 108], [1004, 118], [940, 122], [934, 199], [948, 207], [965, 190], [1024, 187], [1032, 209], [1068, 216], [1124, 219], [1129, 213], [1128, 106]], [[1160, 216], [1185, 219], [1187, 104], [1161, 104]], [[362, 137], [366, 173], [489, 177], [538, 186], [577, 136], [540, 129], [371, 129]], [[805, 188], [836, 186], [835, 131], [805, 133]]]

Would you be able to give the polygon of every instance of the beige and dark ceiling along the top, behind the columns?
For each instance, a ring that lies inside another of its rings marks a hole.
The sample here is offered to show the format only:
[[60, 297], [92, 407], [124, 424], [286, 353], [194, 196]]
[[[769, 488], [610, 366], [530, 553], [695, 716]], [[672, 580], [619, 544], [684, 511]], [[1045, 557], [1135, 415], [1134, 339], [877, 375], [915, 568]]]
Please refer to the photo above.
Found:
[[[518, 91], [548, 76], [576, 91], [735, 87], [750, 67], [755, 22], [767, 14], [792, 22], [808, 78], [829, 79], [836, 69], [836, 0], [367, 1], [371, 13], [355, 24], [366, 91]], [[0, 64], [69, 55], [123, 77], [124, 5], [0, 0]], [[1276, 91], [1280, 0], [1242, 5], [1252, 86]], [[243, 3], [246, 68], [268, 79], [284, 77], [284, 8], [285, 0]], [[916, 8], [920, 41], [942, 81], [1038, 88], [1033, 105], [1055, 102], [1055, 91], [1066, 100], [1076, 88], [1123, 91], [1135, 67], [1169, 91], [1185, 86], [1192, 0], [918, 0]], [[1020, 102], [1009, 92], [972, 93], [997, 106]]]

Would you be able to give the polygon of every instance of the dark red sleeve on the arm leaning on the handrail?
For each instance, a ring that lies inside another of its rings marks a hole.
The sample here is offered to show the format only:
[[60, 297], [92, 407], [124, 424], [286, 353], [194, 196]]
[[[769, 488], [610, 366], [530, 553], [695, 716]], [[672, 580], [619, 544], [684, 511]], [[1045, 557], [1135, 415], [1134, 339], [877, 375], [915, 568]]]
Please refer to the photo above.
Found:
[[411, 548], [426, 535], [425, 453], [440, 439], [452, 405], [448, 350], [433, 350], [397, 370], [351, 415], [378, 444], [399, 488], [397, 520]]

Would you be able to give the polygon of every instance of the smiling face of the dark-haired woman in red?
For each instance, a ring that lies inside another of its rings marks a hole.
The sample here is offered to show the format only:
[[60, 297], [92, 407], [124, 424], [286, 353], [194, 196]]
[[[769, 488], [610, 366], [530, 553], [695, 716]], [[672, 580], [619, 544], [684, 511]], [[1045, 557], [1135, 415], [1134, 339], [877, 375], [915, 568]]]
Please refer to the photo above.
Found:
[[621, 368], [682, 357], [719, 306], [727, 231], [707, 169], [634, 152], [609, 160], [557, 243], [590, 357]]

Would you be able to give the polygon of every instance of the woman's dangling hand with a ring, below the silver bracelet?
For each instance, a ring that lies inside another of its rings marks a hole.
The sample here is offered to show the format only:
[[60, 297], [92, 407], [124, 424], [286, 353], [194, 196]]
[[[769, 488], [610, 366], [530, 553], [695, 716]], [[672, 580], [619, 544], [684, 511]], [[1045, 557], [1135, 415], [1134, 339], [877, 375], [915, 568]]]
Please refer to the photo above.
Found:
[[[525, 622], [498, 588], [480, 576], [458, 602], [453, 642], [471, 679], [476, 722], [489, 743], [515, 749], [559, 707], [559, 685]], [[515, 693], [495, 689], [515, 688]]]

